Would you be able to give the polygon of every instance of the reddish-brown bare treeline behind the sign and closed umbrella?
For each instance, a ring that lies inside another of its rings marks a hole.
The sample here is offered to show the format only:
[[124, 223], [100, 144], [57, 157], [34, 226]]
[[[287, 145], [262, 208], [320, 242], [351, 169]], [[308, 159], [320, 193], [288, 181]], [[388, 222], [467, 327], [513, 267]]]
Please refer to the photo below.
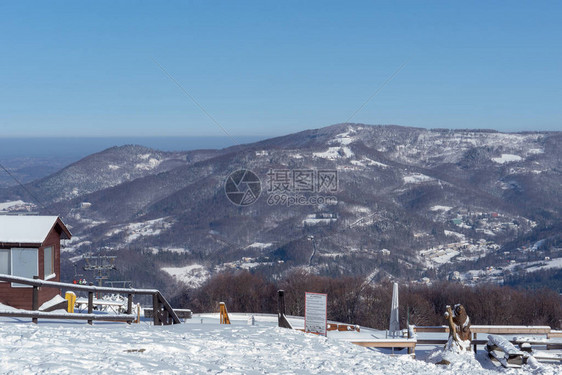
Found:
[[[172, 301], [194, 312], [218, 312], [225, 302], [231, 312], [276, 313], [277, 290], [285, 290], [288, 315], [304, 315], [304, 293], [328, 294], [328, 319], [388, 328], [392, 284], [366, 284], [355, 277], [330, 278], [292, 271], [271, 281], [247, 271], [221, 273], [199, 289], [186, 289]], [[472, 324], [548, 325], [560, 328], [562, 298], [549, 289], [517, 290], [495, 284], [469, 287], [442, 282], [400, 286], [400, 320], [416, 325], [445, 324], [446, 305], [461, 303]]]

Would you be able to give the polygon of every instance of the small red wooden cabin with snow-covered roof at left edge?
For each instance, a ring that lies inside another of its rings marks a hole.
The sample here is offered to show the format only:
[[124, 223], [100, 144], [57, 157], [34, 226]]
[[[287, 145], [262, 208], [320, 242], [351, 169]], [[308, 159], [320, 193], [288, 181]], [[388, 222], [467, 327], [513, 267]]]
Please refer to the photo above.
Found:
[[[60, 281], [60, 240], [72, 235], [58, 216], [0, 216], [0, 274]], [[31, 310], [32, 287], [0, 282], [0, 303]], [[39, 289], [39, 306], [60, 293]]]

